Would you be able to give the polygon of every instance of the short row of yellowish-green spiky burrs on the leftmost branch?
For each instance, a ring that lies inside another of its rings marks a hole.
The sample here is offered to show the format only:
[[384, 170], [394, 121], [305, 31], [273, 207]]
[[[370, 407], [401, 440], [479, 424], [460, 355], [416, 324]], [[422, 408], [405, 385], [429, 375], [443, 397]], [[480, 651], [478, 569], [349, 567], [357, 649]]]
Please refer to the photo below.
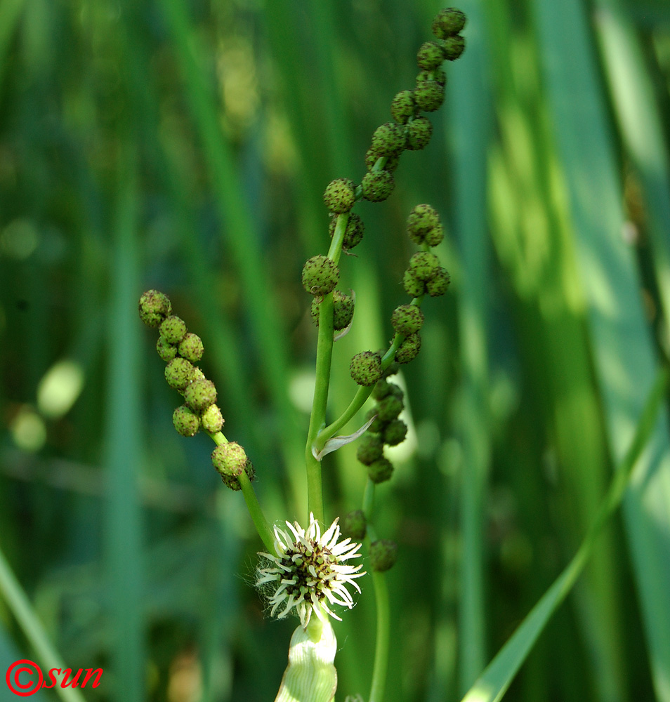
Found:
[[[183, 396], [183, 404], [173, 412], [174, 428], [185, 437], [204, 430], [214, 437], [223, 428], [221, 409], [216, 404], [216, 386], [196, 365], [204, 347], [197, 334], [190, 333], [185, 322], [172, 314], [168, 296], [157, 290], [147, 290], [140, 297], [140, 319], [159, 330], [156, 343], [158, 355], [166, 362], [165, 380]], [[239, 490], [238, 477], [242, 470], [254, 479], [254, 466], [242, 446], [225, 442], [212, 452], [212, 463], [223, 483]]]

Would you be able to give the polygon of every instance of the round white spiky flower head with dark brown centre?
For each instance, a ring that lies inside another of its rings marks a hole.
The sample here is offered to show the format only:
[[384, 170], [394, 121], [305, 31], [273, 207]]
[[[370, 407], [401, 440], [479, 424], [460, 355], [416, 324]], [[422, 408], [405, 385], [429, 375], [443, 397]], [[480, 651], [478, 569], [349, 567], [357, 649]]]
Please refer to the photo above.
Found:
[[321, 534], [321, 527], [312, 514], [307, 529], [298, 522], [286, 522], [289, 531], [275, 527], [277, 555], [259, 554], [269, 563], [268, 567], [258, 570], [256, 580], [257, 586], [275, 588], [269, 597], [271, 616], [282, 608], [277, 614], [282, 619], [295, 607], [300, 623], [306, 628], [313, 612], [322, 621], [327, 619], [324, 612], [341, 621], [330, 606], [353, 607], [346, 586], [353, 585], [360, 592], [356, 578], [364, 575], [360, 572], [363, 566], [350, 565], [346, 561], [360, 558], [360, 543], [352, 542], [350, 538], [337, 543], [340, 538], [337, 522], [335, 519], [324, 534]]

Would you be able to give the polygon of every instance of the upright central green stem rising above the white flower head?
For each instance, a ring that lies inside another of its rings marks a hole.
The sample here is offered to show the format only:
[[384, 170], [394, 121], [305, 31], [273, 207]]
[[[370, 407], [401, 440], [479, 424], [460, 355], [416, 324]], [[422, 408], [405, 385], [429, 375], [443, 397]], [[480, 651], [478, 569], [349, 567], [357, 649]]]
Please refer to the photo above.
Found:
[[[328, 258], [337, 263], [342, 252], [342, 242], [346, 231], [349, 214], [337, 216], [333, 239], [328, 251]], [[307, 511], [317, 521], [325, 524], [323, 508], [323, 486], [321, 480], [321, 462], [315, 458], [313, 447], [315, 440], [326, 423], [328, 388], [330, 385], [330, 368], [333, 357], [333, 293], [324, 295], [319, 310], [319, 336], [317, 339], [317, 359], [314, 384], [314, 398], [310, 416], [310, 428], [305, 448], [305, 465], [307, 468]], [[323, 448], [323, 447], [321, 447]]]

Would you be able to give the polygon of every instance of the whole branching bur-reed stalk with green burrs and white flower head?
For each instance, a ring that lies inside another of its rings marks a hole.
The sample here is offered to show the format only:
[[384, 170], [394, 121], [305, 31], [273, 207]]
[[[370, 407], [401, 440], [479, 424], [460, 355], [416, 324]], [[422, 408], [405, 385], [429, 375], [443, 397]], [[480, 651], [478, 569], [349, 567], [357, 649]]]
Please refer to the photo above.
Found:
[[[313, 296], [311, 314], [318, 327], [315, 388], [305, 449], [306, 527], [289, 521], [285, 522], [286, 529], [270, 526], [252, 485], [254, 465], [240, 444], [223, 435], [224, 420], [216, 404], [216, 387], [196, 365], [204, 351], [202, 340], [172, 314], [170, 300], [164, 293], [150, 290], [140, 298], [141, 319], [159, 329], [157, 352], [166, 362], [166, 381], [183, 396], [183, 404], [173, 413], [174, 427], [185, 437], [202, 430], [216, 444], [212, 464], [225, 486], [242, 491], [265, 545], [265, 552], [259, 554], [256, 586], [268, 600], [270, 616], [297, 614], [300, 621], [291, 637], [289, 665], [275, 702], [333, 700], [337, 685], [336, 639], [330, 618], [339, 620], [339, 608], [354, 606], [350, 588], [361, 591], [357, 580], [365, 572], [357, 559], [361, 557], [363, 541], [367, 544], [377, 610], [376, 650], [367, 702], [383, 700], [390, 639], [385, 571], [395, 564], [398, 546], [377, 538], [372, 524], [373, 507], [376, 486], [393, 474], [384, 446], [396, 446], [407, 435], [407, 425], [400, 419], [403, 392], [388, 378], [421, 350], [423, 299], [426, 295], [444, 294], [449, 285], [449, 274], [432, 251], [444, 237], [440, 217], [428, 204], [417, 205], [409, 213], [407, 234], [419, 246], [402, 280], [410, 301], [393, 311], [393, 338], [388, 348], [362, 351], [351, 359], [350, 375], [358, 388], [347, 409], [327, 425], [333, 345], [348, 331], [355, 307], [353, 291], [347, 294], [337, 290], [339, 262], [342, 252], [350, 251], [363, 238], [364, 225], [360, 216], [353, 213], [356, 202], [387, 199], [395, 185], [393, 173], [402, 152], [421, 150], [428, 144], [433, 127], [421, 113], [438, 110], [444, 101], [447, 77], [442, 62], [455, 60], [463, 53], [465, 42], [460, 32], [465, 21], [464, 13], [455, 8], [438, 13], [433, 20], [435, 40], [426, 41], [416, 55], [416, 86], [395, 95], [390, 108], [393, 121], [374, 131], [365, 156], [367, 173], [361, 183], [337, 178], [324, 192], [324, 204], [331, 216], [330, 246], [325, 256], [313, 256], [306, 262], [301, 277], [304, 289]], [[339, 435], [370, 397], [375, 406], [365, 424], [351, 435]], [[326, 529], [322, 458], [355, 440], [359, 440], [357, 459], [368, 476], [362, 509], [346, 515], [342, 527], [336, 518]]]

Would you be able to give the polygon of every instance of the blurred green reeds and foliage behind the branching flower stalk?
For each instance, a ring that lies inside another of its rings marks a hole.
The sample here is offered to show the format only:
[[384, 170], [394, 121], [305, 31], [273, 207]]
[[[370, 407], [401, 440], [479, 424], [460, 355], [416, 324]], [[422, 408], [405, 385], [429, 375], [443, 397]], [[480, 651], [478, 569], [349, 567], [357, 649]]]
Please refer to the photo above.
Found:
[[[670, 5], [466, 0], [433, 140], [360, 203], [336, 344], [390, 338], [414, 248], [442, 215], [452, 273], [402, 369], [407, 442], [377, 491], [389, 573], [388, 702], [459, 699], [556, 577], [629, 444], [669, 343]], [[225, 434], [273, 521], [306, 511], [325, 185], [360, 182], [414, 86], [432, 1], [0, 1], [0, 548], [90, 700], [274, 698], [296, 621], [251, 587], [261, 542], [204, 436], [174, 432], [148, 288], [204, 340]], [[359, 423], [360, 425], [360, 423]], [[358, 425], [350, 425], [355, 430]], [[507, 698], [670, 701], [667, 416], [624, 510]], [[360, 506], [347, 446], [327, 518]], [[338, 699], [367, 698], [372, 583], [336, 623]], [[34, 658], [0, 596], [0, 672]], [[8, 698], [8, 692], [0, 695]], [[11, 694], [10, 694], [11, 696]], [[38, 701], [53, 699], [44, 691]]]

